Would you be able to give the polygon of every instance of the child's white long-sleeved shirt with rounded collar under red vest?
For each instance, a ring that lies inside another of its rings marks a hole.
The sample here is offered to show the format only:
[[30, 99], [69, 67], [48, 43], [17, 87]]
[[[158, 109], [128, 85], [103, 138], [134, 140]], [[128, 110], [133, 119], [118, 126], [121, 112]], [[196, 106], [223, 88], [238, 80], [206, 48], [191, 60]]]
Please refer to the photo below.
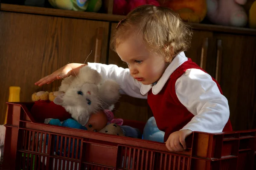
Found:
[[[96, 69], [103, 78], [109, 78], [119, 83], [121, 94], [136, 98], [147, 98], [147, 93], [157, 95], [169, 79], [170, 75], [188, 58], [184, 52], [173, 59], [156, 85], [143, 85], [135, 80], [128, 68], [117, 65], [88, 63]], [[188, 69], [175, 83], [177, 98], [189, 112], [195, 115], [181, 130], [204, 131], [209, 133], [222, 132], [226, 125], [230, 111], [226, 97], [222, 95], [212, 77], [199, 69]]]

